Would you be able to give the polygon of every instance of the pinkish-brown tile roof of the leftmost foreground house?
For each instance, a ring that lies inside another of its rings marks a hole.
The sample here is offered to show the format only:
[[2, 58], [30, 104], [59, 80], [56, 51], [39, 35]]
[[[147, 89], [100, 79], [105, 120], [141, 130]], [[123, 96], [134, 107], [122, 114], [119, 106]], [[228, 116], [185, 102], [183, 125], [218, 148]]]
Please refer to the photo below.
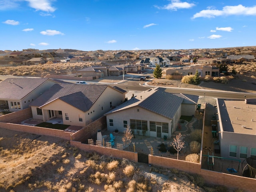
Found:
[[47, 80], [49, 79], [7, 78], [6, 80], [0, 82], [0, 98], [21, 100]]

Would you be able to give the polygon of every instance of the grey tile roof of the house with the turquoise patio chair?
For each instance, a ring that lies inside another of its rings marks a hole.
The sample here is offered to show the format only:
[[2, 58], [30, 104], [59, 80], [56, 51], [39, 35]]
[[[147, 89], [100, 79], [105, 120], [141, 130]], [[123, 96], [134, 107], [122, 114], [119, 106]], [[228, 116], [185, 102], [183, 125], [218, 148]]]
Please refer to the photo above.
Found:
[[152, 88], [141, 92], [136, 97], [131, 98], [104, 115], [140, 106], [164, 117], [173, 118], [182, 103], [196, 104], [197, 101], [198, 96], [173, 94], [166, 92], [165, 88]]

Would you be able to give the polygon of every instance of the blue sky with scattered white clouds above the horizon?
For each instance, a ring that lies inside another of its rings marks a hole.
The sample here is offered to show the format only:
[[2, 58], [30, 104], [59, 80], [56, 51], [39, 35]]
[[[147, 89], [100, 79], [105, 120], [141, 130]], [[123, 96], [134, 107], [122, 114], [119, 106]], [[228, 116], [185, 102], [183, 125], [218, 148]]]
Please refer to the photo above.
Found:
[[255, 0], [0, 0], [0, 50], [256, 46]]

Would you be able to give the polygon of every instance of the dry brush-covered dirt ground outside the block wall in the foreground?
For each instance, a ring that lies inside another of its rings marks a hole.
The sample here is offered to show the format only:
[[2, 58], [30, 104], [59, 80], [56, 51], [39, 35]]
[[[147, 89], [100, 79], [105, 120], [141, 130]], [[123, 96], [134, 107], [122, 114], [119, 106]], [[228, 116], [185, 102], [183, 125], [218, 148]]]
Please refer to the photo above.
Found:
[[[136, 184], [130, 191], [204, 191], [192, 175], [178, 170], [128, 160], [117, 160], [118, 166], [109, 168], [115, 160], [86, 153], [58, 138], [0, 128], [0, 192], [126, 191], [131, 180]], [[134, 167], [131, 176], [124, 174], [127, 165]]]

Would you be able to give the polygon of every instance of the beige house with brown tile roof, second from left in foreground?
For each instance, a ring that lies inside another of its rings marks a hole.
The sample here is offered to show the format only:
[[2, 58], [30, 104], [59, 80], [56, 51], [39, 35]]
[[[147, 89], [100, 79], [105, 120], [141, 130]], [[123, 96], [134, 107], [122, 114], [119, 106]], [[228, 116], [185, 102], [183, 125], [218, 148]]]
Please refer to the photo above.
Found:
[[30, 106], [35, 119], [46, 122], [57, 117], [63, 124], [86, 126], [124, 102], [125, 93], [103, 84], [55, 84]]

